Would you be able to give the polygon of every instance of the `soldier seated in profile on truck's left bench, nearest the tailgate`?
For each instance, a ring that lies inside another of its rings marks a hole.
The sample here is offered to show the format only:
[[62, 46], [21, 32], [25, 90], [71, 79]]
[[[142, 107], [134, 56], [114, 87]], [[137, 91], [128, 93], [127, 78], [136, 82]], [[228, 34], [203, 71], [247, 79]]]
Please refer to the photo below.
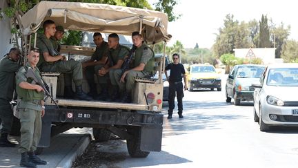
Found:
[[[76, 88], [74, 98], [78, 100], [92, 100], [92, 97], [83, 93], [82, 90], [83, 71], [81, 63], [74, 60], [66, 61], [66, 57], [60, 55], [52, 46], [50, 37], [54, 36], [56, 32], [54, 21], [44, 21], [43, 30], [44, 34], [39, 35], [37, 39], [37, 47], [41, 53], [37, 66], [44, 72], [70, 73]], [[71, 80], [65, 81], [65, 87], [69, 92], [72, 91], [71, 84]]]

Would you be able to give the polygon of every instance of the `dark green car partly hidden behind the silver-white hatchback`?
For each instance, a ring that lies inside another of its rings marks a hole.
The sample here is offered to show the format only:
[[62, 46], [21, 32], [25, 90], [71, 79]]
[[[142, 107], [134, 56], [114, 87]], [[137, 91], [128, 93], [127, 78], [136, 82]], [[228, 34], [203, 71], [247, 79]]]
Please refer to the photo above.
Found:
[[254, 88], [252, 84], [258, 84], [265, 66], [255, 64], [237, 65], [232, 68], [226, 82], [226, 102], [234, 99], [234, 104], [240, 101], [252, 101]]

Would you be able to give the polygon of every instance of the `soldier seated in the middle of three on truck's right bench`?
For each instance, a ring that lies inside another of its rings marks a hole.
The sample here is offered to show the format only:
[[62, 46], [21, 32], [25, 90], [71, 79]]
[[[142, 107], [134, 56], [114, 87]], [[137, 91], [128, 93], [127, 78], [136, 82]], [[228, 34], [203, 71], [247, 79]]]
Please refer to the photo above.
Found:
[[[115, 101], [119, 97], [119, 87], [115, 79], [115, 71], [120, 69], [123, 64], [123, 58], [128, 55], [129, 48], [119, 44], [119, 36], [116, 33], [112, 33], [108, 36], [108, 47], [110, 48], [108, 53], [107, 64], [99, 70], [99, 76], [105, 76], [107, 73], [110, 76], [110, 82], [112, 84], [112, 95], [107, 101]], [[108, 88], [103, 88], [108, 91]]]

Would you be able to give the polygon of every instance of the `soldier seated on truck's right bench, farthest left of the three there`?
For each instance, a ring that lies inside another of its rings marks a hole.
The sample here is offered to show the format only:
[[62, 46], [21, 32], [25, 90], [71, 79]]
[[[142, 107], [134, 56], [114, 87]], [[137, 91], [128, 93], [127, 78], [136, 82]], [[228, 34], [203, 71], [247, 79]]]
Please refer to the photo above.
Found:
[[93, 41], [97, 46], [95, 53], [93, 53], [91, 59], [88, 62], [83, 63], [83, 68], [86, 69], [86, 79], [88, 81], [90, 92], [88, 93], [96, 100], [103, 100], [103, 98], [108, 97], [108, 83], [106, 77], [99, 77], [98, 82], [101, 85], [101, 94], [97, 95], [97, 86], [95, 84], [94, 75], [98, 73], [107, 60], [108, 54], [108, 43], [103, 41], [103, 37], [100, 32], [95, 32], [93, 34]]

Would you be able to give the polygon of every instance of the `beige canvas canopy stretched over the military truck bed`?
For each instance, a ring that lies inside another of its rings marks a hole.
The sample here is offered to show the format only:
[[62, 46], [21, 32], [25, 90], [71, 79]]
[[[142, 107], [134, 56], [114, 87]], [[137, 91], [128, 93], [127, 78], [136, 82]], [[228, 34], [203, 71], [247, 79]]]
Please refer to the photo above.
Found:
[[[45, 12], [46, 11], [46, 12]], [[148, 44], [169, 41], [168, 16], [153, 10], [111, 6], [99, 3], [41, 1], [21, 17], [23, 35], [37, 32], [44, 20], [51, 19], [67, 30], [143, 33]]]

